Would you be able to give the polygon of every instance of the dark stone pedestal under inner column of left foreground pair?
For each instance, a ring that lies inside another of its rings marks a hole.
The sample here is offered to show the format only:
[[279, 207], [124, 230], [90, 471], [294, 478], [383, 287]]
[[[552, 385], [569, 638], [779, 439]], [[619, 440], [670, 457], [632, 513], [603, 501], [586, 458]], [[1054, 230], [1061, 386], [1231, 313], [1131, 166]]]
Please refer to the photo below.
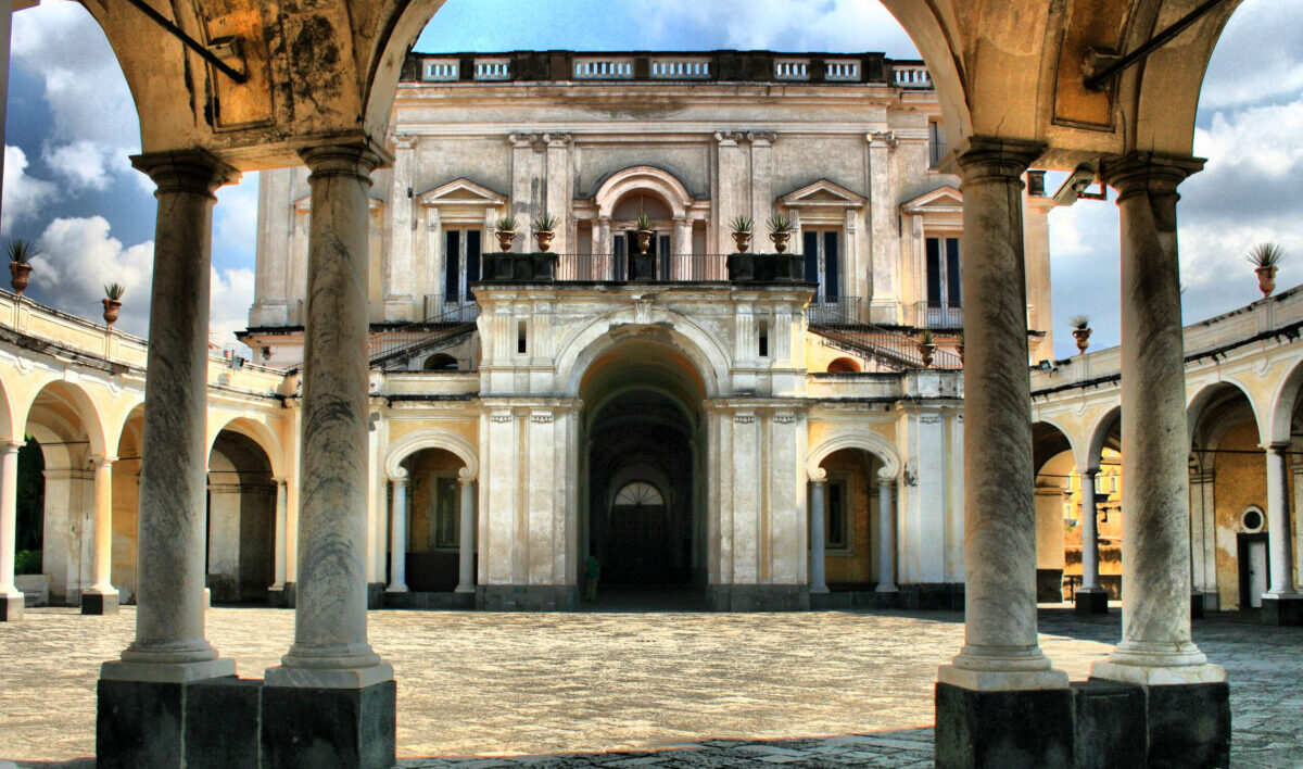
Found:
[[360, 689], [262, 687], [262, 765], [390, 769], [396, 692], [392, 680]]

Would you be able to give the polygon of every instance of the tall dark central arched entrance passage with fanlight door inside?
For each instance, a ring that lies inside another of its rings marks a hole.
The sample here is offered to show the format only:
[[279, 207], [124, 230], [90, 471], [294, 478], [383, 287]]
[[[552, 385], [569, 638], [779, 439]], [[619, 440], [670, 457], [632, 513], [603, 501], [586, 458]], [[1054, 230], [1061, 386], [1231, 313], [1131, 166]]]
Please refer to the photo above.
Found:
[[616, 343], [585, 373], [580, 562], [601, 564], [599, 602], [700, 598], [704, 396], [683, 351], [650, 338]]

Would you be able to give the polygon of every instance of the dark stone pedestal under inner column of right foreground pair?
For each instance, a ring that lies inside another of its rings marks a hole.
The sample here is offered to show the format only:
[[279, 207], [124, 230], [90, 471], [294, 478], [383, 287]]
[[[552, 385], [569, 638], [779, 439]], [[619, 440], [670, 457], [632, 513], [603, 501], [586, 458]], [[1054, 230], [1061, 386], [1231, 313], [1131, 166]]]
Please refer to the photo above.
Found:
[[1068, 769], [1067, 688], [977, 692], [937, 683], [937, 768]]

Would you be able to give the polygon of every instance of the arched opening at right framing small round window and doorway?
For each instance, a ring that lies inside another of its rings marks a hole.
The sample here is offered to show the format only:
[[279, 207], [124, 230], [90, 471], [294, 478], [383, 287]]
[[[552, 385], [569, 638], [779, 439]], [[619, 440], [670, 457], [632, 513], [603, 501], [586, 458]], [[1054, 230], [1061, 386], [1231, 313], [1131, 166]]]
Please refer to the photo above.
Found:
[[[1243, 390], [1218, 383], [1190, 405], [1191, 554], [1195, 589], [1224, 610], [1260, 609], [1270, 587], [1269, 521], [1246, 528], [1244, 511], [1268, 510], [1267, 455], [1253, 407]], [[1285, 473], [1293, 499], [1293, 473]], [[1200, 585], [1200, 577], [1204, 584]]]

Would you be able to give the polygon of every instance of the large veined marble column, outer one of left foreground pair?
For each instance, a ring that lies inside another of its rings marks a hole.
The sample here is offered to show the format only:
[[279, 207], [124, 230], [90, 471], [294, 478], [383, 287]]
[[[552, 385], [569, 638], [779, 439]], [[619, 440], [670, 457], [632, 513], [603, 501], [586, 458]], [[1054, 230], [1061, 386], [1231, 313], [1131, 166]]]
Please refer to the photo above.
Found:
[[235, 675], [203, 636], [208, 257], [214, 192], [240, 179], [205, 150], [136, 155], [158, 185], [137, 523], [136, 640], [100, 678]]

